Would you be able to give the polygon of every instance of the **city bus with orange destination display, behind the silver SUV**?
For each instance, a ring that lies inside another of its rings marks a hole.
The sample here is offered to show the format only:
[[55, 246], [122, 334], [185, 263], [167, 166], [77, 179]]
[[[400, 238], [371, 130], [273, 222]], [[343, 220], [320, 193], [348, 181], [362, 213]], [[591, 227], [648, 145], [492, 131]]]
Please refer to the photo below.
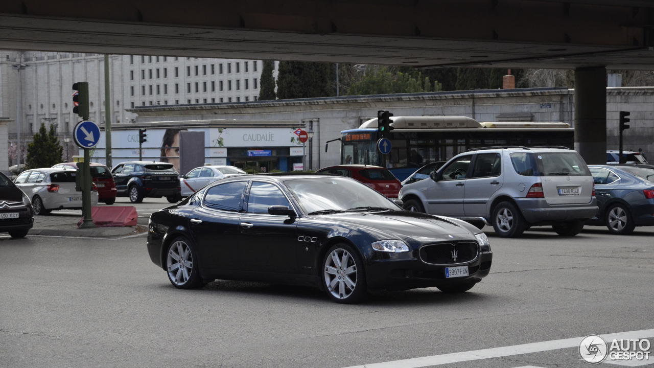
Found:
[[519, 145], [574, 149], [574, 128], [564, 122], [478, 122], [469, 117], [391, 117], [392, 149], [381, 155], [377, 119], [343, 130], [341, 164], [387, 167], [400, 181], [430, 162], [447, 161], [468, 149]]

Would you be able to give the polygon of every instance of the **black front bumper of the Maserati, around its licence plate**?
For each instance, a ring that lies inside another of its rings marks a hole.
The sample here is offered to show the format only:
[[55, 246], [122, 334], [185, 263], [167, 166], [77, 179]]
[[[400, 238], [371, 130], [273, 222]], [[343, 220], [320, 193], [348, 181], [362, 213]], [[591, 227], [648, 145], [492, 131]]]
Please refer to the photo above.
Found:
[[[368, 289], [371, 291], [408, 290], [466, 284], [471, 281], [480, 282], [482, 278], [488, 276], [492, 264], [492, 251], [479, 253], [473, 261], [460, 265], [430, 265], [424, 263], [415, 251], [387, 254], [386, 259], [371, 260], [366, 265]], [[445, 278], [446, 267], [458, 266], [468, 266], [469, 275]]]

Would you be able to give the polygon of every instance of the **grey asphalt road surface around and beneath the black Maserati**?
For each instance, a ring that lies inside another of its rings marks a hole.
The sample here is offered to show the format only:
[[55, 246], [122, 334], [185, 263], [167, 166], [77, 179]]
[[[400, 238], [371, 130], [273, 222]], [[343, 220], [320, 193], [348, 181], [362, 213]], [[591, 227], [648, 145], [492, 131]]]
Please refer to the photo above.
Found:
[[[489, 236], [491, 273], [468, 293], [387, 292], [358, 305], [246, 282], [178, 290], [143, 236], [0, 236], [0, 367], [343, 368], [654, 329], [654, 229]], [[589, 367], [570, 347], [439, 365], [525, 366]]]

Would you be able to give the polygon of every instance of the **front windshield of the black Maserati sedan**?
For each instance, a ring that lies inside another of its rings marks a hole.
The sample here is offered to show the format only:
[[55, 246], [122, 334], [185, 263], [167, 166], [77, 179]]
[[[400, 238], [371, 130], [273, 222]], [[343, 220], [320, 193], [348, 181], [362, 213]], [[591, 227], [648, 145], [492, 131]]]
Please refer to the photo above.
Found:
[[365, 210], [368, 207], [402, 210], [382, 194], [347, 177], [290, 179], [284, 181], [284, 184], [298, 198], [300, 206], [307, 213]]

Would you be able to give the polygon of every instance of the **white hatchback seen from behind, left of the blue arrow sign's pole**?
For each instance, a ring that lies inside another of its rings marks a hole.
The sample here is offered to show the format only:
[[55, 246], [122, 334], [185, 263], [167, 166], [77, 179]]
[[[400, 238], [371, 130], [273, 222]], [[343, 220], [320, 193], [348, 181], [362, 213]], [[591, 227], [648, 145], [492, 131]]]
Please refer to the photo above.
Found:
[[[53, 210], [81, 210], [82, 192], [75, 191], [75, 171], [53, 168], [22, 172], [14, 184], [32, 201], [35, 215]], [[97, 206], [97, 189], [91, 192], [91, 205]]]

